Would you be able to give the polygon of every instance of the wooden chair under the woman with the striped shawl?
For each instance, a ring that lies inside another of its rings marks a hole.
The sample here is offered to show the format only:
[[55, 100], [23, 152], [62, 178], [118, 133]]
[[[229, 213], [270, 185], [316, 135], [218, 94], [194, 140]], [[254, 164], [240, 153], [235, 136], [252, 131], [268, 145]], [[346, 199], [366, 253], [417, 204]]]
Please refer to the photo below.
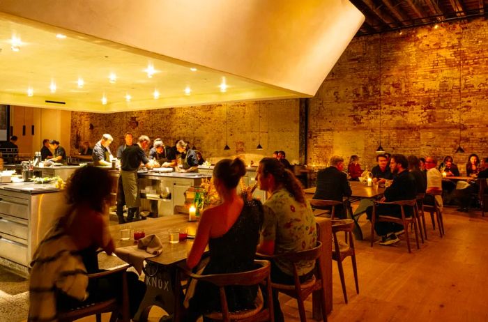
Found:
[[89, 274], [89, 279], [99, 279], [102, 277], [109, 277], [110, 275], [114, 274], [121, 274], [122, 275], [122, 302], [117, 302], [116, 298], [111, 298], [109, 300], [105, 300], [102, 302], [94, 302], [83, 305], [81, 307], [77, 307], [74, 309], [70, 309], [67, 311], [58, 312], [58, 321], [59, 322], [70, 322], [75, 321], [77, 319], [82, 319], [85, 316], [96, 315], [96, 321], [101, 322], [102, 320], [102, 313], [109, 313], [112, 312], [110, 316], [110, 321], [114, 322], [117, 321], [118, 317], [122, 317], [123, 322], [130, 321], [130, 313], [129, 313], [129, 292], [128, 292], [128, 285], [127, 285], [127, 269], [130, 265], [124, 265], [119, 268], [114, 268], [113, 270], [106, 270], [100, 273], [93, 273]]

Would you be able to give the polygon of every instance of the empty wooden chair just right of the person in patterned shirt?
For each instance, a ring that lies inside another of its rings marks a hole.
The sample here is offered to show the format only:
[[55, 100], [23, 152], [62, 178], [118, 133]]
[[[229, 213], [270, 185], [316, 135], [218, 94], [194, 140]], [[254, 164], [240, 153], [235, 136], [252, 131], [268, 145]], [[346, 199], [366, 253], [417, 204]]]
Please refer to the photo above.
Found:
[[[337, 261], [337, 268], [339, 269], [339, 276], [341, 279], [342, 293], [344, 295], [344, 301], [347, 304], [346, 282], [344, 280], [344, 268], [342, 268], [342, 261], [347, 256], [351, 256], [351, 262], [353, 264], [354, 282], [356, 282], [356, 293], [359, 294], [358, 283], [358, 268], [356, 266], [356, 252], [354, 251], [354, 238], [353, 238], [354, 220], [333, 220], [332, 221], [332, 233], [334, 236], [334, 248], [332, 250], [332, 259]], [[337, 239], [337, 233], [344, 231], [346, 233], [346, 239], [349, 243], [340, 243]]]

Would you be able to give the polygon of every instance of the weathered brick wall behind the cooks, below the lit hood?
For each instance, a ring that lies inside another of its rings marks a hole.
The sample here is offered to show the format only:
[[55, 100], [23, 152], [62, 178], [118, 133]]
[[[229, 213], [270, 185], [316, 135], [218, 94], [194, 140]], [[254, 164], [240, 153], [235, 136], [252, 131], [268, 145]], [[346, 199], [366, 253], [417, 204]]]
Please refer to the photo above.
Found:
[[[229, 103], [228, 144], [231, 150], [224, 151], [226, 143], [227, 105], [205, 105], [153, 109], [148, 111], [93, 114], [73, 112], [71, 118], [71, 146], [75, 151], [78, 141], [90, 141], [92, 146], [109, 133], [114, 137], [110, 146], [114, 151], [123, 142], [125, 132], [135, 137], [148, 135], [151, 139], [161, 137], [165, 144], [174, 145], [177, 139], [190, 142], [206, 160], [217, 162], [221, 158], [241, 155], [247, 164], [258, 162], [273, 151], [287, 152], [291, 162], [298, 162], [299, 100], [270, 100], [259, 102]], [[258, 144], [258, 117], [261, 110], [261, 146]], [[195, 115], [195, 130], [194, 116]], [[131, 128], [137, 122], [137, 127]], [[90, 130], [90, 124], [93, 129]], [[194, 140], [195, 137], [195, 140]], [[195, 142], [195, 143], [194, 143]]]

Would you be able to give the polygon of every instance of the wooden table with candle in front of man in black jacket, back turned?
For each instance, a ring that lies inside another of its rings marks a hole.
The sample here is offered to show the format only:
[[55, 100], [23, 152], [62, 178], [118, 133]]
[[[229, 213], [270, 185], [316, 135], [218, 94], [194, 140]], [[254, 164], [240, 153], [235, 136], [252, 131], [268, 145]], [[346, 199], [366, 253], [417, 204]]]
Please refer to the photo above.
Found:
[[[354, 236], [356, 236], [356, 239], [358, 240], [363, 240], [363, 231], [361, 231], [358, 224], [358, 219], [363, 212], [359, 213], [358, 215], [353, 215], [351, 203], [360, 199], [378, 199], [379, 197], [383, 196], [385, 187], [381, 187], [379, 185], [372, 185], [368, 187], [366, 183], [359, 181], [349, 181], [349, 185], [351, 186], [352, 194], [351, 197], [344, 198], [344, 206], [346, 206], [346, 209], [348, 210], [347, 213], [349, 217], [354, 220]], [[314, 197], [315, 190], [316, 187], [310, 187], [304, 190], [307, 199], [312, 199]]]

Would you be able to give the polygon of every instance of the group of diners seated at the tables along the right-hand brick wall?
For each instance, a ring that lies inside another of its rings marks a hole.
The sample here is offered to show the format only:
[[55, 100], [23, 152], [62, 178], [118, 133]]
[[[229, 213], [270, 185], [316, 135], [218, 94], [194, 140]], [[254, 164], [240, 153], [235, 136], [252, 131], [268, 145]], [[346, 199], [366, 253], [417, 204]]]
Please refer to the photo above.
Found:
[[[358, 164], [357, 156], [353, 155], [353, 157], [351, 157], [349, 169], [351, 169], [351, 164], [353, 167]], [[471, 174], [476, 174], [478, 178], [488, 178], [488, 158], [485, 158], [481, 163], [477, 160], [479, 160], [478, 156], [471, 155], [466, 168], [471, 171]], [[371, 170], [373, 183], [390, 183], [386, 187], [381, 201], [412, 200], [416, 199], [417, 194], [425, 194], [424, 204], [433, 206], [434, 202], [437, 202], [439, 207], [443, 207], [441, 195], [431, 194], [431, 192], [442, 192], [443, 190], [443, 174], [437, 167], [436, 158], [430, 156], [425, 158], [425, 169], [422, 169], [421, 161], [415, 155], [410, 155], [407, 158], [402, 154], [391, 156], [380, 154], [376, 156], [376, 161], [378, 164]], [[451, 169], [450, 171], [453, 174], [452, 158], [446, 158], [443, 163], [441, 170]], [[330, 158], [329, 164], [329, 167], [317, 173], [317, 187], [313, 199], [343, 201], [344, 197], [351, 197], [352, 190], [348, 182], [348, 175], [344, 171], [344, 158], [334, 155]], [[363, 173], [362, 170], [354, 171], [355, 174]], [[352, 180], [354, 179], [352, 178]], [[465, 185], [464, 189], [458, 188], [461, 205], [459, 211], [467, 211], [471, 194], [478, 189], [475, 181], [465, 182]], [[325, 208], [330, 209], [331, 207]], [[372, 219], [372, 201], [363, 199], [358, 208], [366, 208], [367, 219]], [[412, 215], [412, 207], [406, 206], [405, 209], [407, 216]], [[335, 207], [335, 215], [340, 218], [346, 217], [346, 209], [342, 204]], [[376, 207], [376, 215], [402, 217], [399, 206], [386, 204], [380, 204]], [[399, 241], [397, 235], [404, 231], [402, 225], [392, 222], [375, 222], [374, 229], [381, 236], [381, 245], [397, 243]]]

